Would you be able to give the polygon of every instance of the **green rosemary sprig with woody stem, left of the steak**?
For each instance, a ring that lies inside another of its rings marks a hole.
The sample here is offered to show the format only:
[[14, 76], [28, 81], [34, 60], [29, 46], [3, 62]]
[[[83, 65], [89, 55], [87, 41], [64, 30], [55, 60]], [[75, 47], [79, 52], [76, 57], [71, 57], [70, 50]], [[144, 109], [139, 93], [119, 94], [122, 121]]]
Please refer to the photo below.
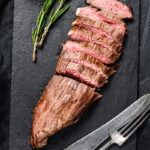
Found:
[[[36, 51], [38, 47], [43, 45], [44, 39], [51, 27], [51, 25], [65, 12], [68, 10], [70, 5], [62, 8], [66, 0], [58, 0], [57, 7], [54, 11], [52, 8], [50, 12], [51, 5], [54, 0], [46, 0], [42, 7], [42, 10], [39, 13], [37, 19], [37, 28], [36, 30], [32, 29], [32, 40], [33, 40], [33, 56], [32, 60], [36, 60]], [[49, 19], [47, 21], [48, 13], [50, 12]], [[46, 23], [47, 21], [47, 23]]]

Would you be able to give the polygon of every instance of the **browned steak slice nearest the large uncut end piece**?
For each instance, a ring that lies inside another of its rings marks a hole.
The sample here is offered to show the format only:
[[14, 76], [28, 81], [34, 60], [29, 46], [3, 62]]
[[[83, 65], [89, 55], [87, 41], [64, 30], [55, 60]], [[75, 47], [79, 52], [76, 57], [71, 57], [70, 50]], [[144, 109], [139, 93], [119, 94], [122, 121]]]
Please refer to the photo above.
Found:
[[58, 60], [56, 72], [58, 74], [74, 77], [81, 82], [96, 88], [100, 88], [108, 82], [108, 80], [103, 77], [101, 73], [64, 58]]

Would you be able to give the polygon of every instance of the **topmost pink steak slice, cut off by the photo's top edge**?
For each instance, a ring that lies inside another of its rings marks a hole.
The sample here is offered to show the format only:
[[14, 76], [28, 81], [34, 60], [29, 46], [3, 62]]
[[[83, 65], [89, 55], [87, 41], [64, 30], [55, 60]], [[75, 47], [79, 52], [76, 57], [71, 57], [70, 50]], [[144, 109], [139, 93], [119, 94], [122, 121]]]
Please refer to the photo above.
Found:
[[86, 2], [122, 19], [133, 18], [130, 7], [117, 0], [86, 0]]

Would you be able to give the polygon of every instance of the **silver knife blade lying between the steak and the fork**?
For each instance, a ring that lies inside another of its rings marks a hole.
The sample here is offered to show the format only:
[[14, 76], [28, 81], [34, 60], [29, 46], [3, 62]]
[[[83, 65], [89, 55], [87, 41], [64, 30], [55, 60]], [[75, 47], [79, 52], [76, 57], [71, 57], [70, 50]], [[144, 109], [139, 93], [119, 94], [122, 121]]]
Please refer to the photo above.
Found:
[[119, 128], [125, 126], [135, 119], [135, 116], [140, 116], [143, 111], [146, 111], [146, 109], [150, 109], [150, 94], [139, 98], [115, 118], [64, 150], [95, 150], [100, 144], [110, 137], [110, 133], [113, 133]]

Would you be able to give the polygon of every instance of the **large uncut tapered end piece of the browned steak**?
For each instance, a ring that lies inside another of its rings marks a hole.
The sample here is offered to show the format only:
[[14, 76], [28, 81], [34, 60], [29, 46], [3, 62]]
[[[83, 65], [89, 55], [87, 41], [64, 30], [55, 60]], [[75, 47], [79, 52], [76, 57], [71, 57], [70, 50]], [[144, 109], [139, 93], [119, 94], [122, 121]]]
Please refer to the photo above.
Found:
[[42, 148], [48, 136], [77, 122], [85, 109], [100, 97], [94, 88], [55, 75], [34, 110], [30, 138], [32, 147]]

